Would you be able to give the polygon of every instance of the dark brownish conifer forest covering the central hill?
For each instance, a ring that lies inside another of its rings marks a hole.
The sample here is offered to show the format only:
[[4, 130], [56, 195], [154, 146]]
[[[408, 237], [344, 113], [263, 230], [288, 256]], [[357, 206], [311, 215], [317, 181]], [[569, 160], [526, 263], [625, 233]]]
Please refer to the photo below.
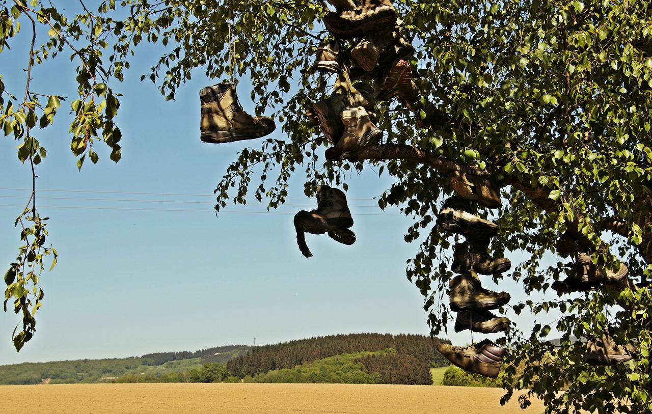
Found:
[[[253, 347], [246, 355], [230, 359], [226, 370], [230, 376], [244, 378], [255, 377], [273, 370], [291, 369], [297, 365], [308, 364], [319, 359], [325, 359], [341, 354], [352, 354], [363, 351], [383, 351], [394, 349], [396, 354], [391, 357], [393, 366], [398, 372], [413, 372], [423, 367], [447, 366], [449, 362], [435, 349], [435, 340], [424, 335], [415, 334], [347, 334], [319, 336], [303, 340], [283, 342], [282, 344]], [[383, 362], [387, 362], [389, 359]], [[366, 361], [376, 365], [376, 361]], [[387, 382], [394, 383], [394, 382]], [[430, 382], [432, 383], [432, 381]]]

